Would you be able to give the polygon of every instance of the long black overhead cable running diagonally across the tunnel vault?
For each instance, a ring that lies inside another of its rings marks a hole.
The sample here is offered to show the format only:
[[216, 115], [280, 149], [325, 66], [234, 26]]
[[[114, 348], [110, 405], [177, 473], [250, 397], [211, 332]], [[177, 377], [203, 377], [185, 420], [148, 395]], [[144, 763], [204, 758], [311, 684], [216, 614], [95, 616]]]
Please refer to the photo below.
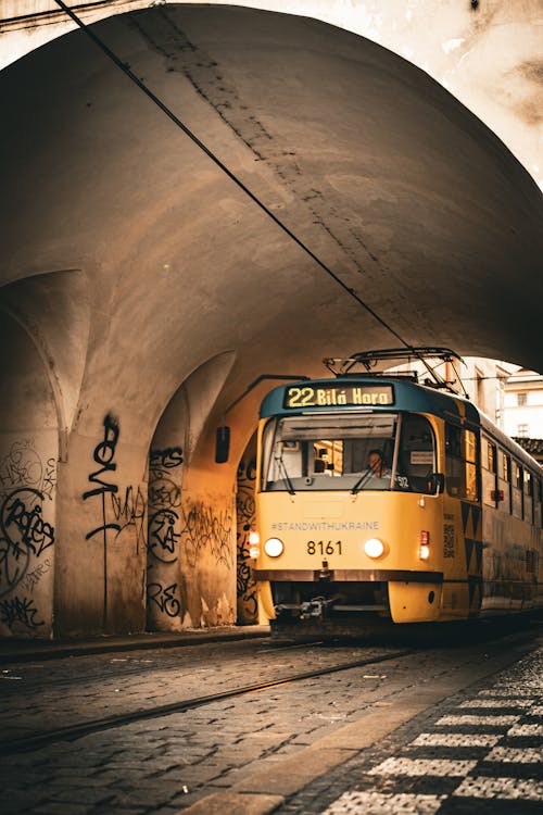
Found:
[[159, 108], [161, 109], [161, 111], [162, 111], [162, 112], [163, 112], [163, 113], [165, 113], [165, 114], [166, 114], [166, 116], [168, 116], [168, 118], [171, 118], [171, 120], [172, 120], [172, 122], [174, 122], [174, 124], [176, 124], [176, 125], [177, 125], [177, 126], [178, 126], [178, 127], [179, 127], [179, 128], [180, 128], [180, 129], [181, 129], [181, 130], [182, 130], [182, 131], [184, 131], [184, 133], [185, 133], [185, 134], [186, 134], [186, 135], [187, 135], [187, 136], [188, 136], [188, 137], [189, 137], [189, 138], [191, 139], [191, 140], [192, 140], [192, 141], [193, 141], [193, 142], [194, 142], [194, 145], [197, 145], [197, 146], [198, 146], [198, 147], [199, 147], [199, 148], [200, 148], [200, 149], [201, 149], [201, 150], [202, 150], [202, 151], [203, 151], [203, 152], [204, 152], [204, 153], [205, 153], [205, 154], [206, 154], [206, 155], [207, 155], [207, 156], [209, 156], [209, 158], [210, 158], [210, 159], [211, 159], [211, 160], [212, 160], [212, 161], [213, 161], [213, 162], [214, 162], [214, 163], [216, 164], [216, 165], [217, 165], [217, 167], [219, 167], [219, 168], [220, 168], [220, 170], [223, 171], [223, 173], [226, 173], [226, 175], [228, 176], [228, 178], [230, 178], [230, 179], [231, 179], [231, 180], [232, 180], [232, 181], [233, 181], [233, 183], [235, 183], [235, 184], [236, 184], [236, 185], [237, 185], [237, 186], [238, 186], [238, 187], [239, 187], [239, 188], [240, 188], [241, 190], [243, 190], [243, 192], [244, 192], [244, 193], [245, 193], [247, 196], [249, 196], [249, 198], [250, 198], [250, 199], [251, 199], [251, 200], [252, 200], [252, 201], [253, 201], [253, 202], [254, 202], [254, 203], [255, 203], [255, 204], [256, 204], [257, 206], [260, 206], [260, 209], [261, 209], [261, 210], [263, 210], [263, 212], [265, 212], [265, 213], [266, 213], [266, 215], [267, 215], [268, 217], [270, 217], [270, 218], [272, 218], [272, 221], [274, 221], [274, 222], [275, 222], [275, 223], [277, 224], [277, 226], [278, 226], [278, 227], [279, 227], [280, 229], [282, 229], [282, 230], [283, 230], [283, 231], [285, 231], [285, 233], [286, 233], [286, 234], [287, 234], [287, 235], [289, 236], [289, 238], [291, 238], [291, 239], [292, 239], [292, 240], [294, 241], [294, 243], [296, 243], [296, 244], [298, 244], [298, 246], [299, 246], [299, 247], [300, 247], [300, 248], [301, 248], [301, 249], [302, 249], [302, 250], [303, 250], [303, 251], [304, 251], [304, 252], [305, 252], [306, 254], [308, 254], [308, 255], [310, 255], [310, 258], [311, 258], [311, 259], [312, 259], [313, 261], [315, 261], [315, 263], [317, 263], [317, 265], [318, 265], [318, 266], [320, 266], [320, 268], [321, 268], [321, 269], [323, 269], [324, 272], [326, 272], [326, 274], [327, 274], [327, 275], [329, 275], [329, 276], [330, 276], [330, 277], [332, 278], [332, 280], [336, 280], [336, 283], [337, 283], [337, 284], [338, 284], [339, 286], [341, 286], [341, 288], [342, 288], [342, 289], [344, 289], [344, 290], [345, 290], [345, 291], [348, 292], [348, 294], [350, 294], [350, 296], [351, 296], [351, 297], [352, 297], [352, 298], [353, 298], [353, 299], [354, 299], [354, 300], [355, 300], [355, 301], [356, 301], [356, 302], [358, 303], [358, 305], [362, 305], [362, 308], [363, 308], [363, 309], [365, 309], [365, 310], [366, 310], [366, 311], [368, 312], [368, 314], [371, 314], [371, 316], [374, 317], [374, 319], [376, 319], [376, 321], [377, 321], [377, 322], [378, 322], [378, 323], [379, 323], [379, 324], [380, 324], [380, 325], [381, 325], [381, 326], [382, 326], [383, 328], [386, 328], [386, 329], [387, 329], [388, 331], [390, 331], [390, 334], [392, 334], [392, 336], [393, 336], [393, 337], [395, 337], [395, 338], [396, 338], [396, 339], [397, 339], [397, 340], [399, 340], [399, 341], [400, 341], [400, 342], [401, 342], [401, 343], [402, 343], [402, 344], [403, 344], [403, 346], [404, 346], [405, 348], [407, 348], [407, 349], [408, 349], [409, 351], [412, 351], [412, 352], [414, 353], [414, 355], [415, 355], [415, 356], [416, 356], [416, 358], [417, 358], [418, 360], [420, 360], [420, 362], [422, 362], [422, 363], [424, 363], [424, 365], [425, 365], [425, 367], [426, 367], [426, 368], [428, 369], [428, 372], [429, 372], [429, 373], [430, 373], [430, 374], [431, 374], [432, 376], [434, 376], [434, 378], [437, 378], [437, 375], [434, 375], [434, 374], [432, 373], [432, 371], [431, 371], [430, 366], [429, 366], [429, 365], [427, 364], [426, 360], [425, 360], [425, 359], [424, 359], [424, 358], [422, 358], [422, 356], [421, 356], [421, 355], [420, 355], [420, 354], [419, 354], [419, 353], [418, 353], [418, 352], [416, 351], [416, 349], [415, 349], [415, 348], [413, 348], [413, 346], [412, 346], [412, 344], [409, 344], [409, 343], [408, 343], [408, 342], [407, 342], [406, 340], [404, 340], [404, 338], [403, 338], [403, 337], [402, 337], [402, 336], [401, 336], [401, 335], [400, 335], [400, 334], [399, 334], [399, 333], [397, 333], [397, 331], [396, 331], [396, 330], [395, 330], [394, 328], [392, 328], [392, 326], [390, 326], [390, 325], [389, 325], [389, 324], [388, 324], [388, 323], [387, 323], [387, 322], [386, 322], [386, 321], [384, 321], [384, 319], [383, 319], [382, 317], [380, 317], [380, 316], [379, 316], [379, 314], [378, 314], [378, 313], [377, 313], [376, 311], [374, 311], [374, 309], [371, 309], [371, 306], [370, 306], [370, 305], [368, 305], [368, 304], [367, 304], [366, 302], [364, 302], [364, 300], [363, 300], [363, 299], [362, 299], [361, 297], [358, 297], [358, 294], [356, 293], [356, 291], [355, 291], [355, 290], [354, 290], [353, 288], [351, 288], [351, 287], [350, 287], [350, 286], [348, 286], [348, 285], [346, 285], [345, 283], [343, 283], [343, 280], [342, 280], [342, 279], [341, 279], [340, 277], [338, 277], [338, 275], [337, 275], [337, 274], [336, 274], [334, 272], [332, 272], [332, 269], [331, 269], [331, 268], [330, 268], [329, 266], [327, 266], [327, 264], [326, 264], [326, 263], [325, 263], [324, 261], [321, 261], [321, 260], [320, 260], [320, 258], [318, 258], [318, 256], [317, 256], [317, 255], [316, 255], [316, 254], [315, 254], [315, 253], [314, 253], [314, 252], [313, 252], [313, 251], [312, 251], [312, 250], [311, 250], [311, 249], [310, 249], [310, 248], [308, 248], [308, 247], [307, 247], [307, 246], [306, 246], [306, 244], [305, 244], [305, 243], [304, 243], [304, 242], [303, 242], [302, 240], [300, 240], [300, 238], [299, 238], [299, 237], [298, 237], [296, 235], [294, 235], [294, 233], [293, 233], [293, 231], [292, 231], [291, 229], [289, 229], [289, 227], [288, 227], [288, 226], [287, 226], [286, 224], [283, 224], [283, 223], [282, 223], [282, 221], [280, 221], [280, 220], [279, 220], [279, 218], [277, 217], [277, 215], [274, 215], [274, 213], [272, 212], [272, 210], [269, 210], [269, 209], [268, 209], [268, 208], [266, 206], [266, 204], [264, 204], [264, 203], [263, 203], [263, 202], [262, 202], [262, 201], [261, 201], [261, 200], [260, 200], [260, 199], [258, 199], [258, 198], [257, 198], [257, 197], [256, 197], [256, 196], [254, 195], [254, 192], [252, 192], [252, 191], [251, 191], [251, 190], [249, 189], [249, 187], [247, 187], [247, 186], [245, 186], [245, 185], [243, 184], [243, 181], [241, 181], [241, 180], [240, 180], [240, 179], [239, 179], [239, 178], [238, 178], [238, 177], [237, 177], [237, 176], [236, 176], [236, 175], [235, 175], [235, 174], [233, 174], [233, 173], [232, 173], [232, 172], [231, 172], [231, 171], [230, 171], [230, 170], [229, 170], [229, 168], [228, 168], [228, 167], [226, 166], [226, 164], [224, 164], [224, 163], [223, 163], [223, 162], [220, 161], [220, 159], [218, 159], [218, 158], [217, 158], [217, 156], [215, 155], [215, 153], [213, 153], [213, 152], [212, 152], [212, 151], [210, 150], [210, 148], [209, 148], [209, 147], [206, 147], [206, 145], [204, 145], [204, 143], [203, 143], [203, 141], [201, 141], [201, 139], [199, 139], [199, 138], [198, 138], [198, 136], [197, 136], [197, 135], [195, 135], [194, 133], [192, 133], [192, 130], [191, 130], [191, 129], [190, 129], [189, 127], [187, 127], [187, 125], [186, 125], [186, 124], [185, 124], [184, 122], [181, 122], [181, 120], [180, 120], [180, 118], [178, 118], [178, 117], [177, 117], [177, 116], [175, 115], [175, 113], [174, 113], [174, 112], [173, 112], [173, 111], [172, 111], [172, 110], [171, 110], [171, 109], [169, 109], [169, 108], [168, 108], [168, 106], [167, 106], [166, 104], [164, 104], [164, 102], [163, 102], [163, 101], [162, 101], [161, 99], [159, 99], [159, 97], [156, 97], [156, 96], [155, 96], [155, 95], [153, 93], [153, 91], [152, 91], [152, 90], [150, 90], [150, 89], [149, 89], [149, 88], [147, 87], [147, 85], [146, 85], [144, 83], [142, 83], [142, 82], [141, 82], [141, 79], [139, 79], [139, 78], [138, 78], [138, 77], [136, 76], [136, 74], [135, 74], [135, 73], [134, 73], [134, 72], [132, 72], [132, 71], [130, 70], [130, 67], [129, 67], [129, 66], [128, 66], [128, 65], [127, 65], [127, 64], [126, 64], [125, 62], [123, 62], [123, 61], [122, 61], [122, 60], [121, 60], [121, 59], [119, 59], [119, 58], [118, 58], [118, 57], [116, 55], [116, 53], [114, 53], [114, 51], [112, 51], [112, 50], [111, 50], [111, 49], [110, 49], [110, 48], [109, 48], [109, 47], [108, 47], [108, 46], [105, 45], [105, 42], [104, 42], [104, 41], [103, 41], [102, 39], [100, 39], [100, 37], [98, 37], [98, 36], [97, 36], [97, 35], [96, 35], [96, 34], [94, 34], [93, 32], [91, 32], [91, 29], [90, 29], [90, 28], [89, 28], [89, 27], [88, 27], [88, 26], [87, 26], [87, 25], [86, 25], [86, 24], [85, 24], [85, 23], [83, 22], [83, 20], [80, 20], [80, 18], [79, 18], [78, 16], [77, 16], [77, 14], [75, 14], [75, 12], [73, 12], [73, 11], [72, 11], [72, 9], [70, 9], [70, 8], [68, 8], [68, 7], [66, 5], [66, 3], [64, 3], [64, 2], [63, 2], [63, 0], [54, 0], [54, 1], [55, 1], [56, 5], [59, 5], [59, 7], [60, 7], [60, 8], [61, 8], [61, 9], [62, 9], [62, 10], [63, 10], [63, 11], [64, 11], [64, 12], [65, 12], [65, 13], [66, 13], [66, 14], [67, 14], [67, 15], [68, 15], [68, 16], [70, 16], [70, 17], [72, 18], [72, 20], [73, 20], [73, 21], [74, 21], [74, 23], [75, 23], [76, 25], [78, 25], [78, 26], [79, 26], [79, 28], [81, 28], [81, 30], [83, 30], [83, 32], [85, 32], [85, 34], [86, 34], [86, 35], [87, 35], [88, 37], [90, 37], [90, 39], [91, 39], [91, 40], [92, 40], [92, 41], [94, 42], [94, 45], [97, 45], [97, 46], [98, 46], [98, 48], [100, 48], [100, 49], [101, 49], [101, 50], [102, 50], [102, 51], [104, 52], [104, 54], [105, 54], [105, 55], [106, 55], [106, 57], [108, 57], [108, 58], [109, 58], [109, 59], [110, 59], [110, 60], [111, 60], [111, 61], [112, 61], [113, 63], [115, 63], [115, 65], [116, 65], [116, 66], [117, 66], [118, 68], [121, 68], [121, 71], [123, 71], [123, 73], [124, 73], [124, 74], [126, 74], [126, 76], [128, 76], [128, 78], [129, 78], [129, 79], [131, 79], [131, 80], [132, 80], [132, 83], [135, 83], [135, 85], [137, 85], [137, 86], [138, 86], [138, 88], [139, 88], [140, 90], [142, 90], [142, 91], [143, 91], [143, 93], [146, 93], [146, 96], [147, 96], [147, 97], [149, 97], [149, 99], [151, 99], [151, 101], [153, 101], [153, 102], [154, 102], [154, 103], [155, 103], [155, 104], [156, 104], [156, 105], [157, 105], [157, 106], [159, 106]]

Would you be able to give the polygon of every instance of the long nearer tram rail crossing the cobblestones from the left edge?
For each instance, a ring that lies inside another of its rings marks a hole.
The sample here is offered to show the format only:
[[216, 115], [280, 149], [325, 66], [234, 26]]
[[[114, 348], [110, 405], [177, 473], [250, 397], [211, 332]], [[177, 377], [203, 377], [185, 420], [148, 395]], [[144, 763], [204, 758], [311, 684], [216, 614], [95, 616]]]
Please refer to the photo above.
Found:
[[350, 670], [352, 668], [364, 667], [366, 665], [376, 665], [382, 662], [390, 662], [391, 660], [401, 659], [404, 656], [412, 656], [415, 651], [416, 649], [409, 648], [394, 651], [392, 653], [376, 654], [375, 656], [369, 656], [363, 660], [354, 660], [351, 662], [341, 663], [339, 665], [331, 665], [313, 670], [305, 670], [302, 673], [292, 674], [290, 676], [283, 676], [276, 679], [269, 679], [262, 682], [253, 682], [250, 685], [232, 688], [230, 690], [211, 693], [209, 695], [179, 700], [177, 702], [171, 702], [168, 704], [157, 705], [155, 707], [140, 709], [137, 711], [130, 711], [114, 716], [106, 716], [99, 719], [88, 719], [86, 722], [67, 725], [56, 729], [47, 730], [45, 732], [33, 734], [30, 736], [11, 738], [9, 742], [0, 743], [0, 754], [9, 755], [12, 753], [39, 750], [59, 741], [74, 741], [85, 736], [90, 736], [103, 730], [115, 729], [125, 725], [132, 724], [135, 722], [160, 718], [175, 713], [184, 713], [186, 711], [202, 707], [214, 702], [235, 699], [250, 693], [257, 693], [260, 691], [265, 691], [281, 685], [289, 685], [306, 679], [318, 678], [320, 676], [327, 676], [329, 674], [340, 673], [342, 670]]

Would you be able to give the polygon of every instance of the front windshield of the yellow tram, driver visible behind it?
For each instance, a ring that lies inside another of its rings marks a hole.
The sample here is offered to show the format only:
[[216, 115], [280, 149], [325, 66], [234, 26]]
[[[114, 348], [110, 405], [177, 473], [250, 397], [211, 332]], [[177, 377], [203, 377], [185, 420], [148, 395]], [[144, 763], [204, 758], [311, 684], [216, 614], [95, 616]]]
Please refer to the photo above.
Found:
[[287, 416], [264, 430], [265, 491], [428, 492], [434, 471], [433, 431], [417, 414]]

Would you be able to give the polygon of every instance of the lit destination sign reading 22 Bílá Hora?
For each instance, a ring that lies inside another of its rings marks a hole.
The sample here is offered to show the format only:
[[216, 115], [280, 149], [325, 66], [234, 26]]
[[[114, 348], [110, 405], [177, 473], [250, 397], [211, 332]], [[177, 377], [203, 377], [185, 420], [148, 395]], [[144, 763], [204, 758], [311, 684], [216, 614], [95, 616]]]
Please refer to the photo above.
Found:
[[353, 383], [342, 387], [290, 387], [286, 390], [285, 408], [381, 408], [394, 404], [392, 385], [365, 385]]

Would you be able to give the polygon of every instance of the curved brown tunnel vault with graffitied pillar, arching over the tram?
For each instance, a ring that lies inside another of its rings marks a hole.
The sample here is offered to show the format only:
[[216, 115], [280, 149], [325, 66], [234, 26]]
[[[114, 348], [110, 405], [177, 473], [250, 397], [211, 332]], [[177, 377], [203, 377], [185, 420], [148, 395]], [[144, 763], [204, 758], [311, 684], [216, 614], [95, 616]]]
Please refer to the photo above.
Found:
[[[541, 195], [427, 75], [346, 32], [247, 9], [157, 8], [96, 30], [406, 341], [539, 365]], [[390, 337], [81, 33], [2, 72], [0, 92], [13, 113], [2, 279], [77, 268], [88, 280], [79, 367], [62, 376], [75, 409], [59, 488], [59, 631], [141, 629], [146, 507], [134, 497], [179, 384], [236, 353], [184, 473], [188, 512], [209, 518], [215, 493], [233, 496], [264, 386], [232, 413], [220, 474], [213, 431], [248, 383], [320, 373], [323, 356]], [[62, 302], [52, 308], [61, 317]], [[223, 586], [210, 597], [230, 609], [235, 512], [219, 513]], [[108, 615], [105, 532], [117, 548]], [[209, 575], [195, 580], [195, 593], [209, 590]]]

